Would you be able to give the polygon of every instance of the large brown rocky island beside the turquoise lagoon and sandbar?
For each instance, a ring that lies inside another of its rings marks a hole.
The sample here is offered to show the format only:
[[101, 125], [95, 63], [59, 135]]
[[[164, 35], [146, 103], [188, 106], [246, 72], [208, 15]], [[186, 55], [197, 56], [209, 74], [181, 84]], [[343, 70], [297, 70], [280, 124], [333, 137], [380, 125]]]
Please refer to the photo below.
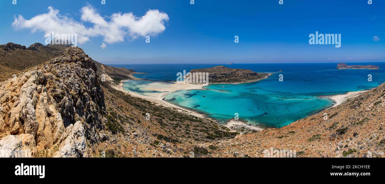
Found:
[[209, 73], [209, 83], [251, 83], [268, 78], [269, 73], [256, 73], [248, 69], [227, 68], [214, 66], [213, 68], [192, 69], [190, 73]]

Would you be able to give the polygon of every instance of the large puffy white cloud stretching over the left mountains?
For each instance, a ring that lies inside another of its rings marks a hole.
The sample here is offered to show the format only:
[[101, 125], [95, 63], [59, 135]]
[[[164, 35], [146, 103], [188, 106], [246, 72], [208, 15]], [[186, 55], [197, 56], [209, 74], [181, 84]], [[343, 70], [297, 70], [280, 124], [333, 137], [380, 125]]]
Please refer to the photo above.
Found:
[[[26, 20], [22, 15], [15, 17], [12, 26], [15, 29], [31, 29], [31, 32], [42, 31], [44, 34], [77, 34], [79, 44], [90, 40], [91, 37], [101, 36], [109, 44], [123, 42], [125, 39], [134, 40], [139, 36], [157, 36], [166, 30], [165, 24], [169, 20], [166, 13], [159, 10], [148, 10], [142, 17], [132, 13], [115, 13], [110, 17], [102, 17], [94, 7], [86, 5], [80, 12], [81, 20], [93, 24], [86, 27], [83, 22], [59, 14], [59, 10], [52, 7], [49, 12]], [[103, 45], [103, 44], [102, 44]]]

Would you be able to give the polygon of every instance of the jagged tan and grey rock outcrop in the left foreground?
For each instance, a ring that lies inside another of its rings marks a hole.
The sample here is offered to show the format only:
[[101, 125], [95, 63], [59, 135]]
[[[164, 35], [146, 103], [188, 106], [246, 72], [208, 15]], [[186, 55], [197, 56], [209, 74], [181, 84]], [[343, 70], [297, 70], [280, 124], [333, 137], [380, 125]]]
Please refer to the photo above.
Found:
[[68, 48], [49, 64], [0, 83], [0, 139], [25, 133], [37, 150], [55, 146], [61, 152], [71, 145], [60, 156], [84, 156], [85, 140], [99, 142], [98, 130], [104, 128], [104, 92], [96, 70], [82, 49]]

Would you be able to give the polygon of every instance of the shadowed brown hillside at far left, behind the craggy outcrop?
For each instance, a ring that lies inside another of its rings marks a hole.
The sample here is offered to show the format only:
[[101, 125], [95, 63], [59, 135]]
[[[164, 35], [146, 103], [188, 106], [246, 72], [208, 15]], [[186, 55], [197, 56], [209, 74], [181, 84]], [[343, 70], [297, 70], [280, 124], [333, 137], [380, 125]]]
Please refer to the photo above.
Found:
[[59, 56], [67, 45], [48, 45], [40, 43], [29, 47], [8, 43], [0, 45], [0, 81], [12, 77], [12, 74], [31, 68]]

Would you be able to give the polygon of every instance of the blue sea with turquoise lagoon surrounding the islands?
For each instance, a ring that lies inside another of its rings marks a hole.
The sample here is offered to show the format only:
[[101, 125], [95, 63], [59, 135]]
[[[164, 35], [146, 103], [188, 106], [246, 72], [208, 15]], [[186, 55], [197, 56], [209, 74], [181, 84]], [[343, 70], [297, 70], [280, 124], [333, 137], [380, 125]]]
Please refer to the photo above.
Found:
[[[349, 91], [371, 89], [385, 82], [385, 62], [346, 63], [348, 65], [380, 66], [378, 70], [337, 70], [337, 63], [311, 64], [232, 64], [229, 68], [251, 69], [259, 73], [273, 73], [268, 79], [254, 83], [210, 84], [206, 90], [181, 90], [164, 100], [205, 113], [220, 122], [227, 122], [238, 113], [249, 124], [283, 127], [333, 105], [321, 95], [336, 95]], [[220, 64], [116, 64], [112, 66], [134, 69], [137, 78], [153, 81], [176, 81], [177, 73]], [[281, 72], [279, 72], [282, 70]], [[278, 81], [283, 74], [283, 82]], [[372, 81], [368, 81], [368, 74]], [[129, 81], [124, 87], [136, 93], [144, 91], [149, 81]], [[224, 88], [223, 88], [224, 87]], [[205, 96], [205, 97], [203, 97]]]

